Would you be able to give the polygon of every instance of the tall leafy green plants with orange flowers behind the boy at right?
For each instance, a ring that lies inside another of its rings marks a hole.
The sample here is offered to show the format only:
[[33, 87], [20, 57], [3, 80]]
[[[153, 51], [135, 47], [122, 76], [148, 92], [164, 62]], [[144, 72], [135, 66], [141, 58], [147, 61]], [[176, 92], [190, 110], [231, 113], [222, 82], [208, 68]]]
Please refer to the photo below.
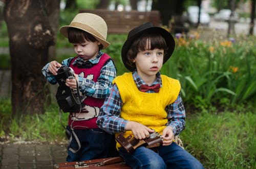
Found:
[[206, 105], [219, 105], [223, 98], [230, 104], [255, 102], [255, 37], [203, 42], [196, 36], [177, 37], [174, 54], [161, 70], [180, 80], [183, 101], [194, 106], [200, 98]]

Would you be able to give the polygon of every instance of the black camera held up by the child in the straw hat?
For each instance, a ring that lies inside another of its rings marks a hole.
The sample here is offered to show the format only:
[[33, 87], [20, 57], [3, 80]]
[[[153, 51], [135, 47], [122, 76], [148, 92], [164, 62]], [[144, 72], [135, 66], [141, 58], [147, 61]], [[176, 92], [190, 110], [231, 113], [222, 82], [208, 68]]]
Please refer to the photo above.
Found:
[[59, 87], [55, 96], [60, 109], [63, 112], [80, 112], [82, 103], [78, 86], [74, 89], [66, 86], [66, 79], [75, 78], [74, 70], [68, 66], [61, 66], [57, 73], [55, 78]]

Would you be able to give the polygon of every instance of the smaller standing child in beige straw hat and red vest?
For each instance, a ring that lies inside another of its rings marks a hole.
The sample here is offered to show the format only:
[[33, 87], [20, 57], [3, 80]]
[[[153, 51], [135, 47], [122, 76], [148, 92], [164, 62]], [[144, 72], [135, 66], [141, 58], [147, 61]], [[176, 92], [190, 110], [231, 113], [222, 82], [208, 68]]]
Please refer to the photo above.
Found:
[[51, 84], [56, 84], [55, 76], [62, 65], [74, 70], [75, 78], [67, 79], [66, 85], [70, 88], [78, 85], [83, 107], [79, 113], [70, 112], [69, 115], [67, 130], [73, 133], [73, 139], [68, 147], [68, 162], [104, 158], [109, 151], [111, 135], [96, 125], [99, 108], [116, 77], [111, 57], [101, 52], [110, 44], [106, 41], [107, 31], [105, 21], [98, 15], [77, 14], [69, 26], [60, 28], [61, 34], [73, 44], [77, 56], [61, 64], [52, 61], [42, 68], [42, 74]]

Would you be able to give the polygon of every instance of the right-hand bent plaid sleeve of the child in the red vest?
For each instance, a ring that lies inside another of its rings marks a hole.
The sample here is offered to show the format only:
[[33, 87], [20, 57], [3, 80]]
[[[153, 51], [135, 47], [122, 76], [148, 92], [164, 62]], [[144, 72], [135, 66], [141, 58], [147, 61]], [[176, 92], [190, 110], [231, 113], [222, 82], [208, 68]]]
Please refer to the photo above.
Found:
[[107, 62], [100, 70], [97, 82], [83, 77], [78, 77], [79, 90], [93, 98], [106, 98], [110, 92], [112, 81], [116, 77], [116, 67], [112, 60]]

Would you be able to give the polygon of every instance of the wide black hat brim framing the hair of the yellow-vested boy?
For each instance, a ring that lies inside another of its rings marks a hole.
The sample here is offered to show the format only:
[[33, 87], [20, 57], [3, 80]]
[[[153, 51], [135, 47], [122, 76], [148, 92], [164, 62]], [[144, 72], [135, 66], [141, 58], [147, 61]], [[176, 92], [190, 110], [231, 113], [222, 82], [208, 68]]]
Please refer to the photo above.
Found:
[[124, 66], [130, 71], [134, 71], [135, 67], [131, 67], [130, 65], [127, 65], [127, 61], [128, 61], [127, 56], [126, 56], [127, 52], [129, 51], [133, 41], [145, 32], [158, 32], [165, 39], [168, 49], [167, 49], [166, 55], [163, 59], [163, 64], [170, 58], [170, 56], [172, 56], [172, 54], [174, 52], [175, 40], [174, 40], [173, 36], [168, 31], [166, 31], [165, 29], [160, 28], [160, 27], [151, 27], [151, 28], [144, 29], [144, 30], [136, 33], [135, 35], [129, 37], [129, 39], [127, 38], [127, 40], [123, 44], [122, 52], [121, 52], [122, 61], [123, 61]]

